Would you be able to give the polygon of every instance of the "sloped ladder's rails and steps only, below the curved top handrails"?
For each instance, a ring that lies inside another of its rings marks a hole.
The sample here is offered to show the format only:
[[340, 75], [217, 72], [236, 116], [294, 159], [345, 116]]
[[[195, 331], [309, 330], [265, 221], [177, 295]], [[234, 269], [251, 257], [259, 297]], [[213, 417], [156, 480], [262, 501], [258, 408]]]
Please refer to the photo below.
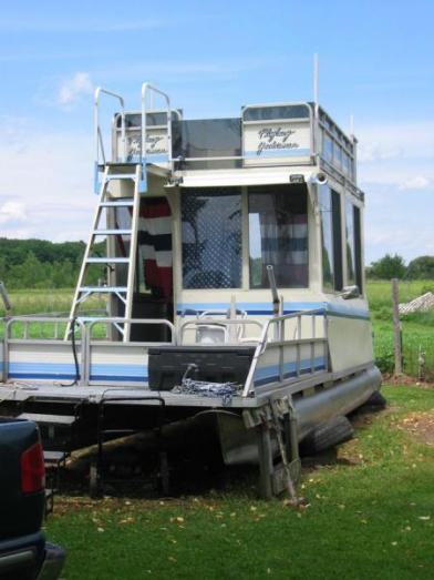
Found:
[[[110, 197], [108, 185], [113, 181], [133, 181], [134, 193], [133, 197]], [[125, 306], [124, 315], [121, 318], [132, 318], [133, 315], [133, 292], [134, 292], [134, 278], [135, 278], [135, 263], [136, 263], [136, 251], [137, 251], [137, 227], [140, 218], [141, 207], [141, 180], [142, 180], [142, 165], [131, 163], [107, 163], [104, 166], [103, 179], [100, 189], [100, 197], [96, 206], [91, 234], [84, 252], [82, 266], [80, 269], [79, 281], [76, 284], [74, 298], [72, 301], [70, 322], [65, 332], [65, 339], [69, 338], [72, 329], [72, 320], [78, 316], [80, 305], [86, 301], [91, 295], [100, 294], [107, 295], [112, 301], [117, 297]], [[110, 210], [116, 210], [118, 207], [131, 207], [131, 226], [117, 227], [115, 220], [111, 220]], [[102, 217], [104, 216], [104, 210], [107, 212], [107, 222], [103, 224]], [[112, 222], [112, 223], [110, 223]], [[108, 255], [110, 248], [113, 252], [113, 245], [108, 242], [106, 244], [106, 256], [95, 257], [93, 256], [93, 250], [97, 243], [99, 237], [111, 237], [111, 236], [130, 236], [130, 248], [126, 256], [114, 256]], [[107, 284], [104, 286], [87, 286], [85, 285], [85, 277], [89, 272], [89, 266], [92, 264], [105, 264], [107, 266]], [[127, 264], [126, 286], [116, 285], [116, 264]], [[131, 324], [116, 322], [115, 327], [122, 335], [123, 342], [130, 340]]]

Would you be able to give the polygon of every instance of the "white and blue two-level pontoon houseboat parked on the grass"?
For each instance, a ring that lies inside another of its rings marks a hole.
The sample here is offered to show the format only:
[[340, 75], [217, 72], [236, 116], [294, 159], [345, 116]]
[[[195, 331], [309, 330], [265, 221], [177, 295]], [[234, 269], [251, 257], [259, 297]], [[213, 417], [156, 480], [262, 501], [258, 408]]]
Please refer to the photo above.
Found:
[[196, 418], [227, 465], [259, 465], [264, 497], [293, 492], [299, 442], [381, 383], [355, 138], [318, 99], [190, 120], [144, 83], [138, 110], [101, 88], [94, 104], [71, 312], [3, 320], [0, 409], [60, 451]]

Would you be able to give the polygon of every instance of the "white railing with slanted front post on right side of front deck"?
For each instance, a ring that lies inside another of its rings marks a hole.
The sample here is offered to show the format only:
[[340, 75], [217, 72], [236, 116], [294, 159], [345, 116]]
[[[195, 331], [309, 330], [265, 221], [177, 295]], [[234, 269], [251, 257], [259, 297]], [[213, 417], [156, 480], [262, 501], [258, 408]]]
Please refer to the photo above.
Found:
[[[302, 318], [309, 316], [311, 318], [311, 328], [310, 337], [302, 337]], [[323, 318], [323, 337], [317, 338], [317, 316], [322, 316]], [[285, 337], [285, 323], [290, 319], [296, 319], [294, 336], [289, 340]], [[272, 337], [269, 337], [270, 328], [276, 325], [276, 330], [272, 333]], [[301, 346], [303, 344], [310, 345], [310, 366], [311, 372], [314, 372], [314, 345], [318, 343], [324, 344], [327, 348], [328, 344], [328, 323], [327, 323], [327, 313], [319, 308], [312, 311], [302, 311], [293, 314], [285, 314], [281, 316], [273, 316], [272, 318], [266, 322], [262, 334], [259, 338], [258, 345], [256, 347], [254, 358], [250, 365], [250, 370], [247, 375], [246, 384], [242, 390], [242, 396], [248, 397], [254, 387], [255, 372], [258, 367], [258, 362], [268, 347], [273, 346], [279, 349], [279, 379], [283, 379], [283, 348], [286, 346], [294, 346], [297, 349], [296, 358], [296, 374], [297, 377], [301, 375]], [[327, 358], [327, 357], [326, 357]]]

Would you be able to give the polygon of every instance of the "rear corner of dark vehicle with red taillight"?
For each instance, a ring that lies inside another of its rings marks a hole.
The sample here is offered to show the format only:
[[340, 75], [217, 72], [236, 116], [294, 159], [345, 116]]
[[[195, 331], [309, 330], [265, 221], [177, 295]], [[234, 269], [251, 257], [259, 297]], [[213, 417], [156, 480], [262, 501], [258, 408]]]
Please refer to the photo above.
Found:
[[37, 425], [0, 418], [0, 579], [55, 580], [64, 551], [45, 541], [45, 469]]

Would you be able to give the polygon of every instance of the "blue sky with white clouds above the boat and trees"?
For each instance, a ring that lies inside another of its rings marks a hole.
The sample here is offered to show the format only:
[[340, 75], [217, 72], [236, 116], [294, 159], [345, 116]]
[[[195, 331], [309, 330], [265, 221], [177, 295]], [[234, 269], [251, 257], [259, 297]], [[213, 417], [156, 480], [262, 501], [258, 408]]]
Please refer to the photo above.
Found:
[[[434, 254], [432, 0], [1, 2], [0, 236], [86, 240], [92, 93], [143, 81], [188, 119], [312, 100], [359, 139], [365, 262]], [[107, 109], [106, 114], [108, 115]]]

